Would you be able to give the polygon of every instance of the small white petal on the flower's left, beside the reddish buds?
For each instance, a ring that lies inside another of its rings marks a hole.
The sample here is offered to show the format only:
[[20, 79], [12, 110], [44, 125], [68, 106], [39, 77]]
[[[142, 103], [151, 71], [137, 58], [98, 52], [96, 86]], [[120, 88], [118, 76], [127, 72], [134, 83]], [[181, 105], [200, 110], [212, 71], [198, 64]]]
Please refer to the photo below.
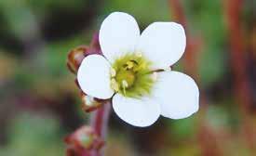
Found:
[[100, 55], [84, 58], [77, 72], [77, 81], [83, 92], [101, 99], [112, 97], [110, 69], [109, 62]]

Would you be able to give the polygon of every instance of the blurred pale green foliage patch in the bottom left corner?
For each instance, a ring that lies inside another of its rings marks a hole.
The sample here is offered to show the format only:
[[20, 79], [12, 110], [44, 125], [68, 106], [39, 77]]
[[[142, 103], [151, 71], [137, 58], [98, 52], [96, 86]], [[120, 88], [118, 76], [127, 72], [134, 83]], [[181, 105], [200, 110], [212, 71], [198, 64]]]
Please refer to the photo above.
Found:
[[60, 125], [49, 116], [21, 114], [9, 127], [8, 143], [0, 155], [61, 156], [64, 153]]

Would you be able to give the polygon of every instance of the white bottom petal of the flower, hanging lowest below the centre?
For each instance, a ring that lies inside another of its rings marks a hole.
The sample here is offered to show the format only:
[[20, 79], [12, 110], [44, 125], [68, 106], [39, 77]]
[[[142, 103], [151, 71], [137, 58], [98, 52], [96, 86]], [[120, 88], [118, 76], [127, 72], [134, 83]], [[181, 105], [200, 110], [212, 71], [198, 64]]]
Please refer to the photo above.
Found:
[[155, 123], [160, 115], [159, 104], [148, 97], [138, 99], [116, 94], [113, 97], [113, 108], [122, 120], [140, 127]]

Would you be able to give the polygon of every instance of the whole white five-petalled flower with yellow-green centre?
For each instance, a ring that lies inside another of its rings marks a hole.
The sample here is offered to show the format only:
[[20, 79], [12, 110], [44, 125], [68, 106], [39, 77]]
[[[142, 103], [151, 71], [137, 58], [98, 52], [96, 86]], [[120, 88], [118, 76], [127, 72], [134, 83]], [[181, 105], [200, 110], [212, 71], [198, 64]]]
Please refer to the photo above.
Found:
[[115, 113], [125, 122], [149, 126], [160, 115], [182, 119], [198, 110], [195, 81], [179, 71], [163, 71], [182, 57], [182, 25], [154, 22], [140, 34], [132, 16], [114, 12], [101, 24], [100, 45], [104, 57], [84, 58], [77, 80], [88, 96], [113, 97]]

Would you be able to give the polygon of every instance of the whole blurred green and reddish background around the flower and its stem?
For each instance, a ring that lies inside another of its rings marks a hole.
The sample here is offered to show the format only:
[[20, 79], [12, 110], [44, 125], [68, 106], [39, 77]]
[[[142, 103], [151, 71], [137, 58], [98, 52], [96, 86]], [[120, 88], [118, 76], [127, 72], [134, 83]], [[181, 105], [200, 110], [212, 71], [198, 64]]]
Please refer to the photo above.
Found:
[[133, 15], [141, 30], [177, 21], [175, 2], [192, 44], [173, 69], [196, 79], [201, 108], [188, 119], [161, 118], [148, 128], [112, 113], [107, 156], [256, 155], [253, 0], [241, 1], [240, 11], [232, 0], [1, 0], [0, 155], [64, 155], [63, 137], [89, 116], [66, 68], [68, 52], [88, 45], [114, 11]]

